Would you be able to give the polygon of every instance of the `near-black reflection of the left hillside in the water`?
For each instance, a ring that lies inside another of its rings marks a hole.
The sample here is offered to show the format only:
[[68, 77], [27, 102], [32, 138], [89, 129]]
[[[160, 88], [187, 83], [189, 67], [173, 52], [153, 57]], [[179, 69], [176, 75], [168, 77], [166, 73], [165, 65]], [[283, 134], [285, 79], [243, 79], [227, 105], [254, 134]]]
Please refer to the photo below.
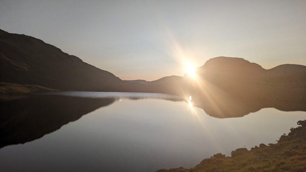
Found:
[[84, 114], [110, 105], [112, 98], [28, 95], [0, 99], [0, 148], [29, 142], [76, 121]]

